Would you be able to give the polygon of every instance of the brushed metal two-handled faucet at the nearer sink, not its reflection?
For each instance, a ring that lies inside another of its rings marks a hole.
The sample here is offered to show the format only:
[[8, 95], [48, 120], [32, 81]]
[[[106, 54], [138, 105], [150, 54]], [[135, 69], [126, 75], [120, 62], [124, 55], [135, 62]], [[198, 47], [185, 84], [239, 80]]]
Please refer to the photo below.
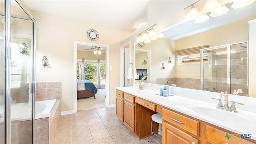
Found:
[[[221, 103], [222, 96], [225, 97], [225, 99], [224, 99], [224, 102], [225, 102], [224, 106], [222, 106], [222, 103]], [[230, 111], [230, 112], [237, 112], [235, 104], [244, 105], [243, 103], [235, 102], [234, 100], [232, 100], [232, 101], [230, 101], [230, 102], [232, 102], [232, 104], [231, 104], [231, 106], [229, 108], [229, 106], [228, 106], [228, 92], [226, 92], [225, 94], [224, 94], [224, 92], [220, 92], [220, 96], [219, 97], [220, 98], [212, 98], [212, 99], [219, 100], [217, 108], [222, 109], [222, 110], [227, 110], [227, 111]]]

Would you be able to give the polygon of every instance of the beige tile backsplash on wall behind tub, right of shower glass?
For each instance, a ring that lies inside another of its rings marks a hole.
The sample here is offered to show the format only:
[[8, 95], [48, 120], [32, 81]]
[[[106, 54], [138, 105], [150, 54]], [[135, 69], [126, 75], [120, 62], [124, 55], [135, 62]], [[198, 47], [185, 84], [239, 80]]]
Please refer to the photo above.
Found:
[[38, 82], [36, 83], [36, 101], [60, 100], [61, 82]]

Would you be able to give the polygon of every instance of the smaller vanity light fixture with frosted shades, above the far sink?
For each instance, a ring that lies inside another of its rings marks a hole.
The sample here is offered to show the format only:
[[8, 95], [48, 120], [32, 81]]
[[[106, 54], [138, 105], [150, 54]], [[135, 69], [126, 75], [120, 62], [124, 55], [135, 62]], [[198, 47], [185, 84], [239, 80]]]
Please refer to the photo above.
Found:
[[153, 26], [151, 26], [150, 28], [144, 30], [143, 32], [141, 32], [140, 34], [138, 34], [138, 38], [136, 39], [136, 42], [144, 42], [144, 43], [149, 43], [153, 40], [157, 40], [157, 38], [163, 38], [164, 34], [160, 33], [160, 34], [156, 34], [155, 30], [153, 29], [153, 27], [156, 26], [156, 24], [154, 24]]

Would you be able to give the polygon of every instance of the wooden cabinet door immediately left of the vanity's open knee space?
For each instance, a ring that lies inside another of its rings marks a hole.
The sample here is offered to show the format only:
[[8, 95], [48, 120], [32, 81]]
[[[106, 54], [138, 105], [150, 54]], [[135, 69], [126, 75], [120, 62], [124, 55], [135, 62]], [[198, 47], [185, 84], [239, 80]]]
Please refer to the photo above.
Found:
[[124, 100], [124, 124], [134, 132], [134, 105]]

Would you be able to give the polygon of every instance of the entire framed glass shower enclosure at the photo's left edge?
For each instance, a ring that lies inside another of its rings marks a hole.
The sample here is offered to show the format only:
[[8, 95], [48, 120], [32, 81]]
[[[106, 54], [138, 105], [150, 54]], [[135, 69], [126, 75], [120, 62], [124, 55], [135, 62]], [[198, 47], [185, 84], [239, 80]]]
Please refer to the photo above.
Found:
[[0, 143], [35, 143], [36, 20], [21, 0], [0, 0]]

